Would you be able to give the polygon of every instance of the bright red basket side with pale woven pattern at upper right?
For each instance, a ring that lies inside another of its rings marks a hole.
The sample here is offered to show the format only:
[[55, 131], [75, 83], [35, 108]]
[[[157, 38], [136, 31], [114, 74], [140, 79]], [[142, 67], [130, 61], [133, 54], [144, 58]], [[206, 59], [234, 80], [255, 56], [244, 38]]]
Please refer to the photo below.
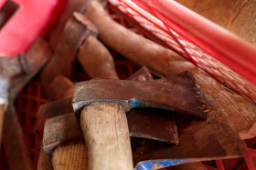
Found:
[[254, 46], [172, 0], [109, 2], [220, 83], [256, 102]]

